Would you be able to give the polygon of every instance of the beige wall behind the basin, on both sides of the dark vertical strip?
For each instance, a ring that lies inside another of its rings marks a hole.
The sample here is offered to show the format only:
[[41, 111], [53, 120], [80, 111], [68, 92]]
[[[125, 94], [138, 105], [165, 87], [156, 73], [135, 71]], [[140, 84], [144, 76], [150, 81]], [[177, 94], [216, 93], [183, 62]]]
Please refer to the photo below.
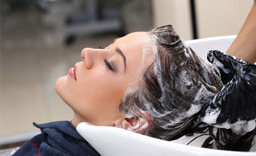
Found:
[[[196, 0], [198, 38], [238, 34], [252, 0]], [[185, 40], [192, 39], [189, 0], [153, 0], [154, 26], [172, 24]]]

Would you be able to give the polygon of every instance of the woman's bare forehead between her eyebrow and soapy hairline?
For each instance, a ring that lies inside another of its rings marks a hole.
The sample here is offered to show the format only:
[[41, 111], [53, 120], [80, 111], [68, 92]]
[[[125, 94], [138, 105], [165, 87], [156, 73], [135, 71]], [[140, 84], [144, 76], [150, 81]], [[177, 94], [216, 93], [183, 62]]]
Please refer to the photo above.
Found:
[[133, 32], [119, 38], [116, 43], [127, 58], [127, 78], [132, 81], [139, 79], [154, 59], [151, 35], [148, 32]]

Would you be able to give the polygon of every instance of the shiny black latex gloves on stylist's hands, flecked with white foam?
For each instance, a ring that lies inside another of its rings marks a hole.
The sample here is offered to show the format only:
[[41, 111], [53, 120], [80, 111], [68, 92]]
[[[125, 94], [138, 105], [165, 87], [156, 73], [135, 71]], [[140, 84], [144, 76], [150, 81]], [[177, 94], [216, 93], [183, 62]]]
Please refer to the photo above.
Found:
[[221, 110], [215, 124], [256, 119], [256, 65], [218, 50], [209, 51], [207, 59], [218, 67], [225, 85], [203, 110]]

